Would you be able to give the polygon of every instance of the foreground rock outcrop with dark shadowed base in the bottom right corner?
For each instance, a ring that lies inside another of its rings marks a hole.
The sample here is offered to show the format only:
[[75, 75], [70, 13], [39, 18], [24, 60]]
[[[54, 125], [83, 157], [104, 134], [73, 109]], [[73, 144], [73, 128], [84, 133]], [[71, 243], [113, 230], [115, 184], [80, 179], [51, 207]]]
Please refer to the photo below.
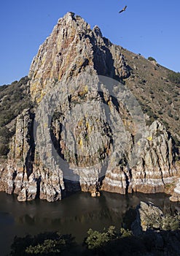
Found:
[[163, 214], [153, 203], [141, 202], [131, 228], [141, 244], [145, 241], [146, 255], [179, 255], [179, 221], [179, 214]]

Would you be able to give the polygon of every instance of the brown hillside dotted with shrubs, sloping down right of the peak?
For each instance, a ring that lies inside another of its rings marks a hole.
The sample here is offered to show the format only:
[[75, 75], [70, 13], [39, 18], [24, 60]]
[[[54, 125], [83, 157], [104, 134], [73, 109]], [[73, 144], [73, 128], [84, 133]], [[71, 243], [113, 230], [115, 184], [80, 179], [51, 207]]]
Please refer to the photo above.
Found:
[[146, 113], [147, 120], [149, 119], [147, 124], [160, 118], [179, 145], [180, 83], [172, 83], [172, 71], [157, 62], [123, 48], [122, 54], [131, 69], [125, 84], [132, 90]]

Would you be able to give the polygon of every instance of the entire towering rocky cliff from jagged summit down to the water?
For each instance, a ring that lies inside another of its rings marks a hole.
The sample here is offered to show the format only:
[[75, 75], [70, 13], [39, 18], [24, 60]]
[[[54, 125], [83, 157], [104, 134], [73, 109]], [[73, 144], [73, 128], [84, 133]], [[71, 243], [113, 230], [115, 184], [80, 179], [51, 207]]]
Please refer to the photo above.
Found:
[[146, 127], [122, 83], [131, 67], [121, 50], [73, 13], [58, 20], [32, 61], [38, 106], [17, 117], [0, 191], [23, 201], [60, 200], [79, 189], [173, 191], [179, 165], [171, 135], [160, 121]]

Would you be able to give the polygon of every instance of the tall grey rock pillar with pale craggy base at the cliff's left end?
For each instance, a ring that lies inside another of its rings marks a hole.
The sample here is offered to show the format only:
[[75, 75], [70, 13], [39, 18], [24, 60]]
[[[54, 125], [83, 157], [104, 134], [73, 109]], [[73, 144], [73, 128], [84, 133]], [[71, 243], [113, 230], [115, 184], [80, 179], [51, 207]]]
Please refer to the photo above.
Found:
[[7, 163], [1, 166], [1, 191], [18, 195], [17, 200], [60, 200], [63, 189], [61, 171], [48, 170], [39, 160], [34, 145], [34, 113], [24, 110], [17, 117], [16, 132], [10, 144]]

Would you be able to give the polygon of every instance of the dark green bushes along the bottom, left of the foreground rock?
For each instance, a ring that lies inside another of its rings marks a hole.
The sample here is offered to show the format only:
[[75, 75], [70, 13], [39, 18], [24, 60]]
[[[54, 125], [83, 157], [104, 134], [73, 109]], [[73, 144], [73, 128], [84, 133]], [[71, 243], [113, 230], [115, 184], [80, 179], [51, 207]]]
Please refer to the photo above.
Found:
[[10, 255], [94, 255], [95, 252], [102, 252], [109, 244], [131, 236], [133, 233], [130, 230], [121, 228], [117, 232], [114, 226], [104, 229], [103, 232], [90, 229], [84, 245], [78, 246], [71, 235], [61, 235], [58, 232], [40, 233], [24, 238], [15, 237]]

